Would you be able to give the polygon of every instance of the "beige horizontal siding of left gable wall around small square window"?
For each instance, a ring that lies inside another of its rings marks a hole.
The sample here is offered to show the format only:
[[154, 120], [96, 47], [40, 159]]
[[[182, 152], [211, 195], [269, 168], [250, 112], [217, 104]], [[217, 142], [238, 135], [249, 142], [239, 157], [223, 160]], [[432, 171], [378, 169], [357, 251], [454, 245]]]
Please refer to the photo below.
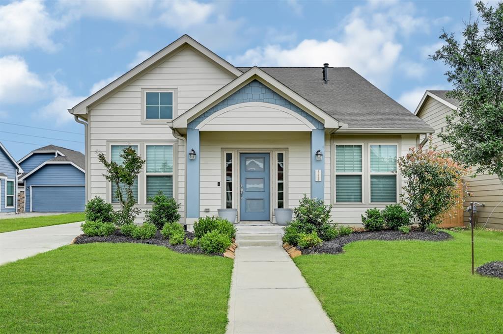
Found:
[[[103, 165], [96, 151], [107, 152], [109, 142], [134, 144], [135, 142], [178, 141], [177, 199], [185, 211], [185, 146], [177, 140], [166, 125], [141, 124], [142, 88], [177, 88], [178, 115], [229, 83], [233, 76], [216, 66], [206, 57], [190, 47], [169, 56], [159, 66], [149, 69], [130, 84], [120, 88], [101, 103], [92, 107], [89, 116], [89, 166], [90, 187], [88, 197], [107, 198], [109, 186], [103, 177]], [[140, 175], [139, 187], [144, 186], [144, 175]], [[148, 207], [142, 204], [140, 207]], [[143, 218], [141, 213], [140, 222]]]

